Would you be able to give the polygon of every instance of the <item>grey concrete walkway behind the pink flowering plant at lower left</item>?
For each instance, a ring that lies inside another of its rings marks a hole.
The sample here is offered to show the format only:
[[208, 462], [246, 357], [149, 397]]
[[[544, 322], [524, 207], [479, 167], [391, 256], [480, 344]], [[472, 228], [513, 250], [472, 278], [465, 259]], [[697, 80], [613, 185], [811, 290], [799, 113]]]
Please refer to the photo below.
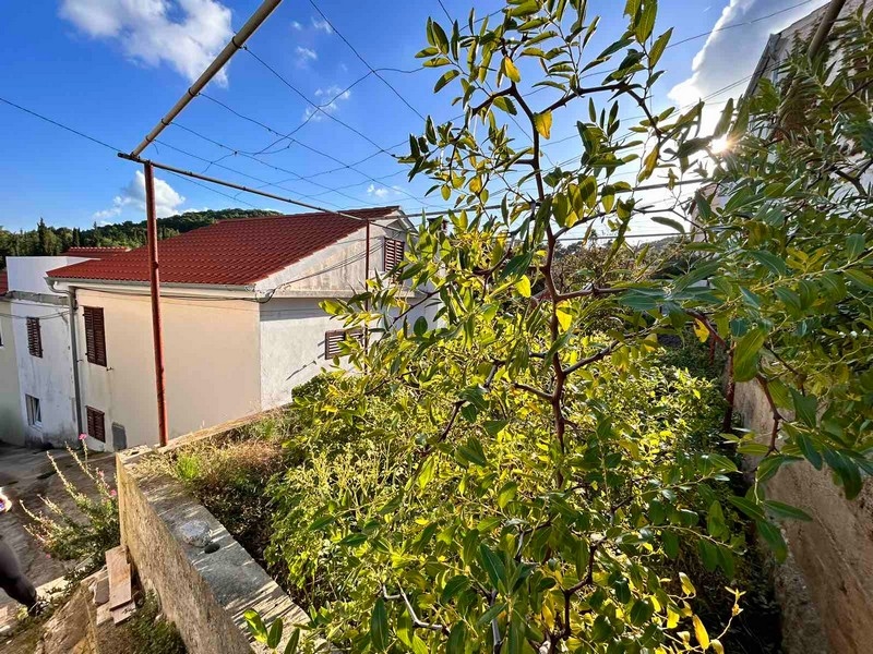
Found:
[[[93, 484], [67, 450], [51, 450], [50, 453], [73, 485], [83, 493], [95, 493]], [[92, 453], [88, 460], [93, 467], [103, 470], [109, 484], [115, 486], [115, 456]], [[0, 487], [14, 502], [11, 511], [0, 513], [0, 533], [15, 552], [25, 574], [40, 594], [62, 586], [63, 576], [73, 562], [50, 558], [39, 547], [24, 528], [28, 518], [21, 509], [23, 502], [31, 511], [39, 512], [43, 509], [41, 496], [57, 502], [69, 514], [76, 516], [73, 501], [46, 452], [0, 443]], [[0, 634], [14, 622], [17, 611], [19, 605], [0, 591]]]

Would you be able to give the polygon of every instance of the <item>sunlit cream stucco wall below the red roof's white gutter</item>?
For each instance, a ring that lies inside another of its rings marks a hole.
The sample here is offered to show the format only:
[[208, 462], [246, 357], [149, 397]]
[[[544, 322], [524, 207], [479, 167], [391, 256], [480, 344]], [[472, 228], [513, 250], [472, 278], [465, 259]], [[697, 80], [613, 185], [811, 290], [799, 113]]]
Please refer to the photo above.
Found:
[[[124, 427], [128, 447], [156, 444], [148, 295], [77, 289], [76, 300], [82, 401], [106, 414], [107, 449], [112, 423]], [[84, 306], [104, 308], [107, 367], [85, 356]], [[259, 306], [243, 300], [162, 299], [170, 438], [260, 411]]]

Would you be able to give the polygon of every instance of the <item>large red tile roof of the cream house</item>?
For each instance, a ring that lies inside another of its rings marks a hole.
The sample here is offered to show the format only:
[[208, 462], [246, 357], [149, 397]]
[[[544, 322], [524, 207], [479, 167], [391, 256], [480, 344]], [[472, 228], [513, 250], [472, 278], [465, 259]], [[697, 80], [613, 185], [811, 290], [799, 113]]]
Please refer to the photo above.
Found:
[[[349, 209], [359, 218], [386, 218], [398, 207]], [[158, 241], [160, 280], [168, 283], [248, 286], [361, 229], [335, 214], [230, 219]], [[104, 259], [50, 270], [55, 279], [148, 281], [148, 252], [139, 247]]]

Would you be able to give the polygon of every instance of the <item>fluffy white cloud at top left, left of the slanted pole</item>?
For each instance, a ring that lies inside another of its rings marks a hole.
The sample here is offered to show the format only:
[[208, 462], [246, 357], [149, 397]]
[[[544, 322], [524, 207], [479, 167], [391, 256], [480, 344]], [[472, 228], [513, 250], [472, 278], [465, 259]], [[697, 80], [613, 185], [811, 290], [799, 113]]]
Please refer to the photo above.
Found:
[[[167, 63], [195, 80], [234, 34], [217, 0], [62, 0], [61, 17], [93, 38], [116, 41], [132, 60]], [[215, 77], [227, 84], [227, 73]]]

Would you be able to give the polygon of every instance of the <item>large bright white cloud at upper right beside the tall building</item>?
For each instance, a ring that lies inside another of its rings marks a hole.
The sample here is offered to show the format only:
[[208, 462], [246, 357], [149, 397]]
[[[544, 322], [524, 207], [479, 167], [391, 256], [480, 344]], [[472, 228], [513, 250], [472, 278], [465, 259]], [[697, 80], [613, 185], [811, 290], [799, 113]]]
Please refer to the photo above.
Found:
[[[742, 77], [751, 75], [767, 45], [769, 35], [785, 29], [825, 1], [817, 0], [811, 4], [803, 4], [751, 25], [745, 24], [733, 29], [715, 32], [728, 25], [748, 23], [797, 4], [794, 0], [730, 0], [721, 11], [714, 32], [695, 55], [692, 61], [691, 76], [673, 86], [668, 94], [669, 98], [682, 107], [693, 105]], [[745, 92], [746, 84], [748, 82], [743, 81], [730, 90], [718, 94], [707, 104], [719, 105], [730, 97], [738, 97]], [[714, 123], [719, 113], [717, 110], [707, 112], [705, 122]]]

